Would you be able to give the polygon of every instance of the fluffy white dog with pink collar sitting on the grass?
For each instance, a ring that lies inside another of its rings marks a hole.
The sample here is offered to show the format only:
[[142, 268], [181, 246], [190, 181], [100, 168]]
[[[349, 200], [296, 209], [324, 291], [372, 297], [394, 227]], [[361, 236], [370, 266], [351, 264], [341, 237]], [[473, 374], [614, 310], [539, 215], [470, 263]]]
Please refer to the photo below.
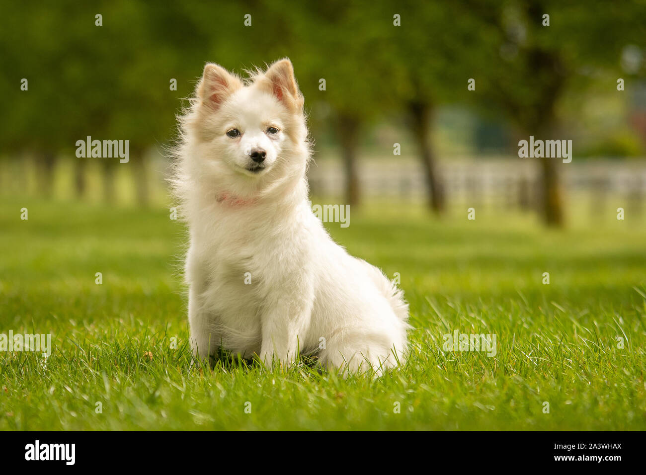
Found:
[[289, 59], [242, 80], [207, 64], [180, 117], [174, 190], [189, 224], [194, 355], [267, 366], [315, 354], [342, 374], [404, 360], [402, 291], [335, 244], [307, 201], [310, 150]]

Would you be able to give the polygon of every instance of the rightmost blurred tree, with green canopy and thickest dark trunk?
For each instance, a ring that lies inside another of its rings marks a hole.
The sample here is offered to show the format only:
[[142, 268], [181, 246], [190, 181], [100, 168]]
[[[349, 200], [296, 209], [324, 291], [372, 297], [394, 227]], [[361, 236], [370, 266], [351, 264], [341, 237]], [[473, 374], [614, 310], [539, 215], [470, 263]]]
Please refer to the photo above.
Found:
[[[644, 4], [637, 0], [463, 0], [461, 6], [465, 17], [481, 22], [478, 41], [494, 40], [499, 52], [483, 70], [490, 87], [482, 105], [499, 107], [525, 138], [560, 139], [557, 106], [568, 88], [583, 87], [597, 69], [617, 69], [621, 48], [644, 37]], [[560, 163], [540, 159], [541, 214], [549, 226], [564, 222]]]

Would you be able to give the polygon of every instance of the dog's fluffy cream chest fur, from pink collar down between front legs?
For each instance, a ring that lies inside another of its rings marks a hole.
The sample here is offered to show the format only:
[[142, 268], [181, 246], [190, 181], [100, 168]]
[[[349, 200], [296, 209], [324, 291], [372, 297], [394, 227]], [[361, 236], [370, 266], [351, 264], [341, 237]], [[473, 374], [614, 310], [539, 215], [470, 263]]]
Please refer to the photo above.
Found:
[[282, 257], [292, 230], [267, 210], [225, 207], [209, 216], [192, 229], [189, 271], [218, 346], [250, 356], [262, 343], [261, 306], [296, 274], [297, 262]]

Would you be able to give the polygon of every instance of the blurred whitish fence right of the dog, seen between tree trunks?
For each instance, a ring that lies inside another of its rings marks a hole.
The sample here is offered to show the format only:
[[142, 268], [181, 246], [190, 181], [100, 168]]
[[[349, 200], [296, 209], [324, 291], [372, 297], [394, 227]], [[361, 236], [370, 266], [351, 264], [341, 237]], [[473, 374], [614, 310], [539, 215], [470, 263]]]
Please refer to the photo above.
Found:
[[[557, 159], [556, 159], [557, 160]], [[579, 160], [557, 165], [566, 192], [589, 192], [595, 199], [617, 194], [646, 198], [646, 159]], [[413, 158], [362, 159], [357, 167], [362, 196], [421, 200], [426, 196], [422, 165]], [[441, 160], [438, 173], [446, 200], [475, 201], [494, 206], [530, 207], [539, 196], [540, 164], [534, 158], [460, 158]], [[344, 171], [340, 160], [320, 160], [309, 169], [315, 195], [342, 197]]]

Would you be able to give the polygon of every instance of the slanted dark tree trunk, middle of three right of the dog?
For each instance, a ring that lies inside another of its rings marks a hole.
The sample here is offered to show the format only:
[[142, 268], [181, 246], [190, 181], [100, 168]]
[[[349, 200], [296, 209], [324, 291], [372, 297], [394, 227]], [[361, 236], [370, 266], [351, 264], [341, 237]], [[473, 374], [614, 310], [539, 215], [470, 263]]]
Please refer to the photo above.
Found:
[[419, 157], [424, 167], [428, 205], [436, 215], [444, 211], [444, 186], [437, 173], [435, 156], [431, 145], [430, 123], [432, 106], [421, 101], [413, 101], [408, 106], [412, 118], [412, 129], [419, 149]]

